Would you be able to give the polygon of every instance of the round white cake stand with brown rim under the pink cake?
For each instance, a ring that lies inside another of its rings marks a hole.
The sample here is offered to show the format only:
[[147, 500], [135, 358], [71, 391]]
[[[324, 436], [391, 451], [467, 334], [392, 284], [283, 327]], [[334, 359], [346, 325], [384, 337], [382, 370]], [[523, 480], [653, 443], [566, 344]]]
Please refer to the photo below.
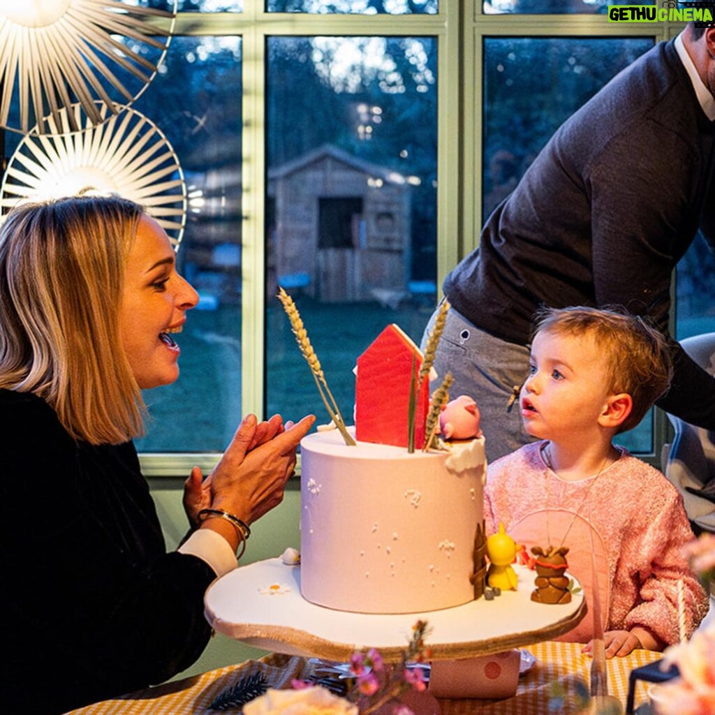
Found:
[[300, 595], [300, 566], [269, 558], [218, 578], [207, 590], [204, 606], [212, 628], [225, 636], [267, 651], [332, 661], [349, 661], [355, 651], [376, 648], [385, 661], [398, 662], [418, 620], [428, 622], [427, 645], [435, 661], [548, 641], [570, 631], [586, 615], [581, 589], [565, 605], [535, 603], [534, 572], [518, 565], [514, 570], [517, 590], [502, 591], [492, 601], [482, 597], [421, 613], [348, 613], [305, 601]]

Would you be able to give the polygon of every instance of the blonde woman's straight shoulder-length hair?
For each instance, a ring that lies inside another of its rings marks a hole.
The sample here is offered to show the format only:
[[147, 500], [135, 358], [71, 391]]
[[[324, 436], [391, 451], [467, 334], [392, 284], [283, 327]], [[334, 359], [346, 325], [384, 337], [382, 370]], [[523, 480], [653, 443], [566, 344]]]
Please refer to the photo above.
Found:
[[119, 332], [142, 215], [126, 199], [72, 197], [16, 207], [0, 228], [0, 388], [39, 395], [92, 444], [144, 432]]

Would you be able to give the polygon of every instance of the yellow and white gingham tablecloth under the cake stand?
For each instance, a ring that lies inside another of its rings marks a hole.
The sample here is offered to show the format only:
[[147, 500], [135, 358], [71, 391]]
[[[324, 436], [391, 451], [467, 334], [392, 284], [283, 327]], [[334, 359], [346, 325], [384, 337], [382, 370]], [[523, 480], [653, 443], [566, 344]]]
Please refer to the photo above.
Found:
[[[588, 684], [591, 659], [581, 654], [581, 644], [545, 643], [528, 646], [536, 656], [536, 664], [521, 676], [516, 695], [499, 701], [440, 699], [442, 715], [543, 715], [548, 713], [549, 697], [557, 691], [563, 696], [560, 713], [578, 711], [576, 684]], [[608, 693], [616, 696], [623, 707], [628, 695], [631, 670], [658, 660], [653, 651], [633, 651], [626, 658], [608, 661]], [[290, 688], [294, 678], [306, 679], [312, 671], [310, 661], [297, 656], [272, 654], [256, 661], [227, 666], [199, 676], [175, 681], [154, 688], [71, 711], [71, 715], [210, 715], [212, 701], [225, 689], [243, 677], [262, 672], [273, 688]], [[636, 685], [636, 707], [646, 701], [646, 685]]]

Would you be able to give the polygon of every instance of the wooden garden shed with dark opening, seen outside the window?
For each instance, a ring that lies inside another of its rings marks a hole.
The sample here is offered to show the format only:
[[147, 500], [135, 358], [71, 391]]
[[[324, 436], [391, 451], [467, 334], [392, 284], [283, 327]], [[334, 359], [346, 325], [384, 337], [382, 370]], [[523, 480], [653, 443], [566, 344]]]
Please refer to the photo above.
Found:
[[410, 186], [402, 174], [325, 145], [272, 169], [268, 198], [269, 284], [329, 302], [408, 295]]

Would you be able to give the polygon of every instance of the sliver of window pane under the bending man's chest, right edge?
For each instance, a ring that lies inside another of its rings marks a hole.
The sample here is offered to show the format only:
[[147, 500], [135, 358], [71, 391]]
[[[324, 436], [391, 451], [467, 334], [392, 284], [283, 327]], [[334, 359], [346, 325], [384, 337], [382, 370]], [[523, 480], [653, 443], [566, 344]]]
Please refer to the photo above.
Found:
[[715, 332], [715, 246], [697, 235], [678, 264], [676, 337]]

